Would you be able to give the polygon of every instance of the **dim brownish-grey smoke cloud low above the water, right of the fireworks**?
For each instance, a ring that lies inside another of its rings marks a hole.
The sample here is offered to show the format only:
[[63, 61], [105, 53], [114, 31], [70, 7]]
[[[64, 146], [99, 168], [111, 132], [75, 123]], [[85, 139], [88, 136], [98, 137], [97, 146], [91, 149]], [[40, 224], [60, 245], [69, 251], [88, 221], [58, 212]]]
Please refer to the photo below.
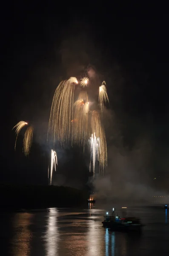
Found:
[[132, 150], [122, 145], [108, 147], [108, 167], [104, 177], [94, 180], [95, 197], [104, 201], [141, 203], [154, 196], [166, 196], [165, 189], [155, 187], [151, 172], [152, 146], [140, 139]]

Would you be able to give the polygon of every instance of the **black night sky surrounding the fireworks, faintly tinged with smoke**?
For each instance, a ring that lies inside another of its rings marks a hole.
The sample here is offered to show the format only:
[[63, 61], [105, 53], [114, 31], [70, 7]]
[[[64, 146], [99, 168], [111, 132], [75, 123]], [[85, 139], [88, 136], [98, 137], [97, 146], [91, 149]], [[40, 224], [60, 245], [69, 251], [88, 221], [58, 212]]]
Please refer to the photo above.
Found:
[[[57, 84], [78, 76], [88, 65], [105, 80], [110, 104], [104, 116], [108, 168], [112, 180], [168, 187], [169, 103], [168, 27], [157, 9], [121, 6], [43, 5], [35, 1], [4, 6], [1, 15], [0, 180], [47, 183], [51, 145], [46, 135]], [[91, 88], [95, 98], [96, 92]], [[34, 126], [31, 155], [22, 153], [21, 132], [14, 152], [12, 127], [20, 120]], [[60, 184], [88, 180], [88, 160], [78, 148], [56, 146]], [[120, 167], [125, 157], [124, 166]], [[78, 160], [77, 160], [78, 159]], [[129, 168], [129, 170], [126, 170]], [[132, 167], [131, 167], [132, 166]], [[132, 169], [132, 171], [131, 171]], [[117, 170], [120, 170], [117, 175]]]

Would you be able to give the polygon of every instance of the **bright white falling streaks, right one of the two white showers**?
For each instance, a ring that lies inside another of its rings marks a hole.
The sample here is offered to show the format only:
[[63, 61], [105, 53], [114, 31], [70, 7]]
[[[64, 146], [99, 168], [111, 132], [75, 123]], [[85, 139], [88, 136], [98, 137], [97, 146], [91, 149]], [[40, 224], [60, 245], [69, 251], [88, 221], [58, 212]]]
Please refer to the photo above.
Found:
[[[91, 160], [93, 163], [93, 177], [95, 177], [95, 163], [96, 163], [96, 159], [97, 161], [99, 161], [99, 157], [100, 157], [100, 140], [99, 138], [96, 138], [95, 133], [94, 133], [94, 136], [92, 134], [92, 137], [90, 138], [90, 143], [91, 143]], [[91, 166], [91, 162], [90, 162], [90, 166]]]

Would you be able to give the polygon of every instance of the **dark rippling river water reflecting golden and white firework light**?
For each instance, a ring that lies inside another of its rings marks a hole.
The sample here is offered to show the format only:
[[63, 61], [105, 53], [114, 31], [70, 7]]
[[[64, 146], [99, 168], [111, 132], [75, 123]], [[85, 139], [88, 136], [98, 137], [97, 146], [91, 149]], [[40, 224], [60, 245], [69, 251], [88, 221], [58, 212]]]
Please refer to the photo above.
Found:
[[[85, 209], [86, 208], [86, 209]], [[169, 209], [128, 207], [120, 216], [140, 217], [140, 234], [112, 232], [102, 227], [109, 207], [50, 208], [0, 213], [2, 256], [169, 256]]]

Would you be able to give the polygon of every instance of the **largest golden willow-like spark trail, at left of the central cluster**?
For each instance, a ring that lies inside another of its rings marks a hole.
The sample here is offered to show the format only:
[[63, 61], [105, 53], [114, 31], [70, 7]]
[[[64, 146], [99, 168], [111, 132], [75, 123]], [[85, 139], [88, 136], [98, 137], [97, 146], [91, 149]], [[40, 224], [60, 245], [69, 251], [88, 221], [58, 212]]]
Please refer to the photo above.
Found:
[[54, 141], [57, 138], [61, 144], [70, 138], [71, 121], [73, 119], [74, 84], [77, 83], [77, 79], [71, 77], [60, 82], [54, 93], [48, 134], [51, 132]]

